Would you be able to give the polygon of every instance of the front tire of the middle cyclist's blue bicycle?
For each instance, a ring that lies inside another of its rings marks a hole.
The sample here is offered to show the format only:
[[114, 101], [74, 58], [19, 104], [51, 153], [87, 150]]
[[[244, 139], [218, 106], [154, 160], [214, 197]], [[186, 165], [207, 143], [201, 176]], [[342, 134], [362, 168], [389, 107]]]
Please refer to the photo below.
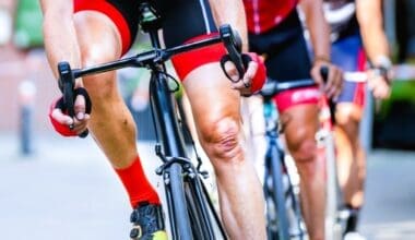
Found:
[[[285, 205], [285, 192], [284, 192], [284, 183], [283, 183], [283, 170], [282, 170], [282, 157], [283, 154], [276, 148], [276, 147], [270, 147], [269, 152], [266, 154], [266, 168], [269, 175], [265, 173], [265, 181], [264, 181], [264, 193], [265, 193], [265, 200], [266, 200], [266, 208], [268, 208], [268, 237], [269, 239], [278, 239], [278, 240], [288, 240], [289, 237], [289, 224], [288, 224], [288, 216], [286, 212], [286, 205]], [[271, 179], [271, 184], [269, 183], [269, 178]], [[271, 201], [271, 202], [269, 202]], [[269, 211], [272, 205], [275, 207], [276, 212], [276, 219], [270, 219], [271, 213]], [[273, 221], [276, 221], [276, 229], [272, 228], [275, 226], [271, 226], [271, 224], [275, 224]]]

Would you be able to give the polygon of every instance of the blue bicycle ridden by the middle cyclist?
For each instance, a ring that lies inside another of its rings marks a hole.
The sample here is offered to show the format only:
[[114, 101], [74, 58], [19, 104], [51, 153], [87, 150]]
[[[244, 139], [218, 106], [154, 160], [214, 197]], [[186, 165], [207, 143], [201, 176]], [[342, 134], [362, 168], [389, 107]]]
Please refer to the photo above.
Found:
[[306, 239], [304, 219], [299, 204], [298, 187], [293, 184], [287, 172], [286, 154], [278, 141], [278, 116], [273, 97], [283, 91], [315, 86], [311, 79], [286, 83], [268, 81], [260, 92], [263, 98], [263, 116], [265, 120], [266, 153], [264, 159], [263, 191], [266, 201], [268, 239]]

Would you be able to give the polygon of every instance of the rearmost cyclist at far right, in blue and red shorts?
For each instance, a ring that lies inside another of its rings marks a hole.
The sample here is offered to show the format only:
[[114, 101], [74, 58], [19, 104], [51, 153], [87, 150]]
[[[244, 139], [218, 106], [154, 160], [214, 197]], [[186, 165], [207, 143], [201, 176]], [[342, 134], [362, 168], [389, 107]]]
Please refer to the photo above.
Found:
[[[327, 0], [324, 10], [332, 26], [332, 61], [345, 72], [364, 71], [367, 56], [372, 65], [368, 86], [375, 97], [388, 97], [391, 61], [382, 29], [381, 1]], [[346, 233], [356, 231], [364, 203], [366, 157], [359, 141], [364, 99], [364, 83], [345, 82], [336, 105], [339, 178], [351, 213]]]

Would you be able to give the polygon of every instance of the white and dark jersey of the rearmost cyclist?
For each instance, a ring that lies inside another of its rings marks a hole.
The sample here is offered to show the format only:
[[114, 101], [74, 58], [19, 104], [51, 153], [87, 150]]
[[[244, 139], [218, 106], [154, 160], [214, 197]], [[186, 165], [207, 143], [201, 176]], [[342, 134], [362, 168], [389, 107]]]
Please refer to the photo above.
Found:
[[358, 31], [355, 0], [324, 0], [323, 8], [333, 40]]

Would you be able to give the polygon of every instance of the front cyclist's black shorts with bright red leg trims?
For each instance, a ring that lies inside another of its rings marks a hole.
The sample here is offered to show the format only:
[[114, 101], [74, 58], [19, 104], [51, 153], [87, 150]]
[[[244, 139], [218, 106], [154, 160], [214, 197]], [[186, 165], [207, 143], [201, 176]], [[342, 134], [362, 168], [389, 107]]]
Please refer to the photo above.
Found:
[[[217, 34], [209, 0], [153, 0], [152, 7], [162, 17], [163, 38], [166, 47], [174, 47]], [[107, 15], [121, 36], [122, 53], [133, 44], [139, 25], [138, 0], [74, 0], [74, 11], [98, 11]], [[173, 63], [181, 80], [193, 69], [220, 61], [225, 55], [222, 44], [180, 53]]]

